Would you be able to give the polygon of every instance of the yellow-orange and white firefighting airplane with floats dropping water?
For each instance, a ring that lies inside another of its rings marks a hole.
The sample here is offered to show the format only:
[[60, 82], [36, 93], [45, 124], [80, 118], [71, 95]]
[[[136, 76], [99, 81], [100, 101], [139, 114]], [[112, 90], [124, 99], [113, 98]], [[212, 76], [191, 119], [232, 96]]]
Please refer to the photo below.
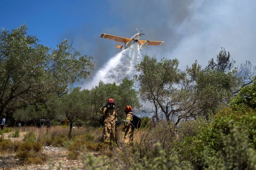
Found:
[[109, 34], [105, 34], [102, 33], [100, 38], [107, 38], [110, 40], [114, 40], [114, 41], [118, 41], [121, 43], [125, 43], [124, 46], [122, 46], [122, 44], [117, 45], [117, 48], [120, 48], [122, 51], [126, 48], [129, 48], [131, 46], [131, 44], [133, 43], [138, 43], [139, 44], [139, 49], [144, 49], [147, 45], [162, 45], [164, 43], [164, 41], [145, 41], [145, 40], [140, 40], [141, 39], [141, 35], [145, 35], [144, 33], [141, 33], [143, 31], [143, 29], [141, 31], [139, 31], [138, 29], [136, 29], [138, 31], [138, 33], [136, 33], [133, 37], [131, 38], [123, 38], [123, 37], [118, 37], [115, 35], [109, 35]]

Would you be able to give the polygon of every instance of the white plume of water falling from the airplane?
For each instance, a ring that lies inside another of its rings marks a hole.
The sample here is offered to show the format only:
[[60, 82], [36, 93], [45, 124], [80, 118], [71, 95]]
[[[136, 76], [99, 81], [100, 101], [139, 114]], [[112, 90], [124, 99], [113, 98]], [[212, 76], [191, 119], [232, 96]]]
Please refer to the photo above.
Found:
[[135, 64], [141, 61], [141, 53], [137, 43], [113, 56], [99, 71], [94, 78], [85, 84], [84, 89], [91, 89], [99, 85], [99, 81], [104, 83], [119, 84], [123, 78], [132, 79], [135, 74]]

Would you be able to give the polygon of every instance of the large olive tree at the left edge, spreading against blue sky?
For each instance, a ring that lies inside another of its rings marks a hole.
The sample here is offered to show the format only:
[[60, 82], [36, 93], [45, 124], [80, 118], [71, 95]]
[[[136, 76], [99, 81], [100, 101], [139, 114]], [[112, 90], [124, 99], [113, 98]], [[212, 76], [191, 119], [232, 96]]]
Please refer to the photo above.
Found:
[[68, 40], [52, 49], [27, 31], [21, 25], [0, 32], [0, 116], [13, 102], [62, 94], [94, 68], [92, 57], [81, 55]]

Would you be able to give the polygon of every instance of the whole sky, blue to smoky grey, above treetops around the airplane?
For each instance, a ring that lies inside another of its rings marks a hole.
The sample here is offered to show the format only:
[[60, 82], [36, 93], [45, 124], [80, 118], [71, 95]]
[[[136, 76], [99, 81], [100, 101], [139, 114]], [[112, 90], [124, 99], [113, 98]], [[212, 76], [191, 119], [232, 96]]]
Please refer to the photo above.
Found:
[[28, 25], [28, 34], [56, 47], [73, 38], [74, 47], [93, 56], [96, 70], [119, 52], [101, 33], [131, 37], [144, 29], [145, 40], [165, 41], [142, 54], [177, 58], [185, 69], [196, 59], [203, 67], [224, 46], [237, 65], [256, 65], [255, 0], [0, 0], [0, 27]]

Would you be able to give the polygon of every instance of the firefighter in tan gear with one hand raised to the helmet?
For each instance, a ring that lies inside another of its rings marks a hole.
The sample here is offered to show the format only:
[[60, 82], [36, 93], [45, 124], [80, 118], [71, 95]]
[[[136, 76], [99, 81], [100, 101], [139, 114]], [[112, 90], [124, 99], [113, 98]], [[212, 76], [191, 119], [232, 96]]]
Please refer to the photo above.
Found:
[[104, 143], [108, 148], [115, 141], [115, 122], [117, 122], [117, 111], [115, 100], [109, 99], [107, 104], [100, 108], [100, 114], [104, 115]]

